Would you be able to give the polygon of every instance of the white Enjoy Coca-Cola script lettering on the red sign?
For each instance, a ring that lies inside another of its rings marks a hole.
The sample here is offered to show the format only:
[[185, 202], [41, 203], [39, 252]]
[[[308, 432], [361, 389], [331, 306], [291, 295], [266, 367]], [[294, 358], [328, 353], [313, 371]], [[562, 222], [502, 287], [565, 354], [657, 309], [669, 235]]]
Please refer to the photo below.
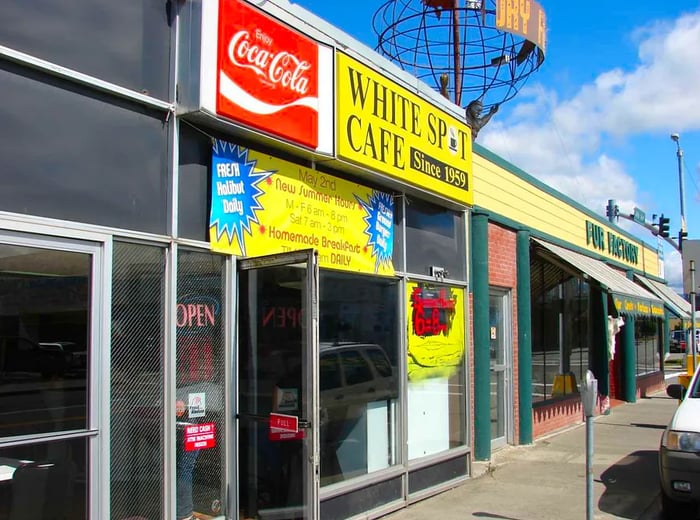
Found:
[[228, 45], [228, 57], [234, 65], [252, 69], [274, 85], [282, 85], [301, 95], [309, 90], [306, 72], [311, 64], [308, 61], [300, 60], [287, 51], [273, 52], [261, 48], [256, 42], [251, 42], [250, 33], [246, 30], [233, 35]]

